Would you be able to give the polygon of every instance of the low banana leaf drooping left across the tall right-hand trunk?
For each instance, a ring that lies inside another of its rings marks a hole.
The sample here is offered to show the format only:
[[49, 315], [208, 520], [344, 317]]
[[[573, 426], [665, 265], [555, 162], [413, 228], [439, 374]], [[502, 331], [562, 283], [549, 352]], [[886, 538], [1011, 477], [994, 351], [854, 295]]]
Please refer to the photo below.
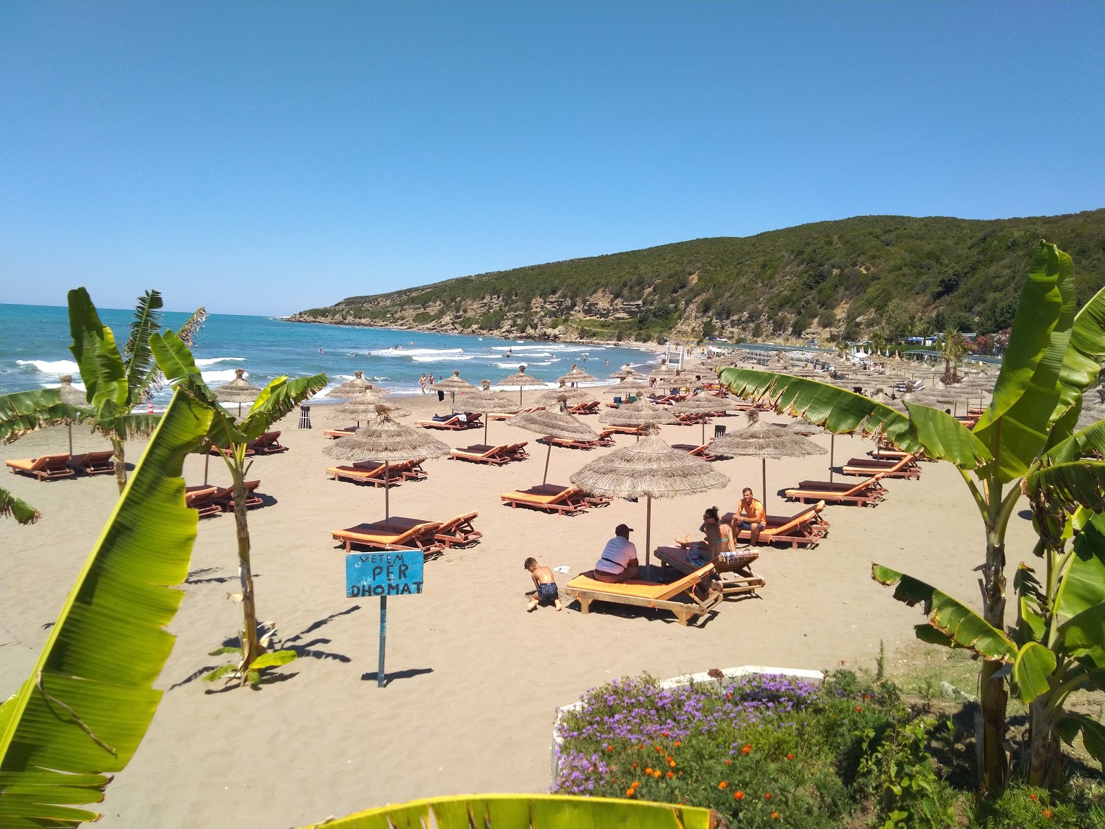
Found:
[[[912, 576], [874, 564], [871, 577], [887, 587], [896, 584], [894, 598], [913, 607], [923, 604], [928, 623], [943, 634], [941, 643], [968, 648], [985, 659], [1012, 662], [1017, 646], [969, 607]], [[932, 641], [932, 640], [926, 640]]]

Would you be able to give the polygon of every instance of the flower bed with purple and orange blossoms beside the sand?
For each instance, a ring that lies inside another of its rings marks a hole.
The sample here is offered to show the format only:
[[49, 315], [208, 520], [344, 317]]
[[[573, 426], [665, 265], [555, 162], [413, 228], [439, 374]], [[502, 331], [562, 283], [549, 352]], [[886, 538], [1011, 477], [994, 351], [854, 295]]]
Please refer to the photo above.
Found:
[[552, 790], [706, 806], [743, 827], [824, 827], [855, 808], [862, 739], [893, 686], [750, 675], [663, 688], [625, 679], [564, 713]]

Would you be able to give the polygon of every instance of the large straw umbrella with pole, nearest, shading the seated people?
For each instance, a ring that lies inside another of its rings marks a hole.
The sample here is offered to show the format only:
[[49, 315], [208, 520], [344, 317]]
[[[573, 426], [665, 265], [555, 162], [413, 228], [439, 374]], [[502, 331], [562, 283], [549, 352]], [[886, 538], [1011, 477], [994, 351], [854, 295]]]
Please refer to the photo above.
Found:
[[650, 434], [638, 443], [597, 458], [571, 476], [571, 482], [591, 495], [635, 499], [644, 495], [644, 564], [652, 553], [652, 500], [696, 495], [719, 490], [728, 475]]

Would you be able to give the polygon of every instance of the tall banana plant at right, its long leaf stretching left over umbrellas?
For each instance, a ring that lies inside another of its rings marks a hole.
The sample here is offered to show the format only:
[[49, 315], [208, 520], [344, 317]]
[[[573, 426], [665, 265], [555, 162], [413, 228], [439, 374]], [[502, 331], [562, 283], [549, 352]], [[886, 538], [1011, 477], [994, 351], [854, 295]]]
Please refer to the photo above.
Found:
[[[1054, 244], [1041, 242], [1021, 291], [993, 399], [974, 430], [936, 409], [906, 403], [904, 416], [860, 395], [815, 380], [750, 369], [719, 371], [739, 397], [769, 400], [832, 432], [881, 432], [906, 451], [954, 463], [986, 527], [982, 618], [1004, 629], [1006, 528], [1033, 461], [1072, 436], [1082, 392], [1097, 381], [1105, 360], [1105, 290], [1075, 314], [1074, 265]], [[1094, 434], [1083, 436], [1094, 440]], [[1091, 447], [1102, 449], [1102, 445]], [[1002, 659], [980, 670], [982, 717], [979, 783], [999, 789], [1008, 772], [1003, 742], [1008, 692]]]

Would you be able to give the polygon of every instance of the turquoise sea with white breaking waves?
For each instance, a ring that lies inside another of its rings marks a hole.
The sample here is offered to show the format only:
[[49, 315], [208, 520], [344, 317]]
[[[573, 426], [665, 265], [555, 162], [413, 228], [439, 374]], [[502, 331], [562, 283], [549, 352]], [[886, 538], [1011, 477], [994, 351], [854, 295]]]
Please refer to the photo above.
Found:
[[[131, 312], [99, 308], [101, 319], [120, 345], [126, 343]], [[166, 313], [164, 325], [179, 327], [188, 314]], [[0, 391], [56, 387], [59, 377], [71, 374], [80, 385], [69, 350], [69, 312], [50, 305], [0, 305]], [[659, 357], [635, 348], [593, 346], [579, 343], [544, 343], [499, 337], [409, 332], [398, 328], [364, 328], [344, 325], [288, 323], [276, 317], [211, 314], [200, 330], [196, 361], [212, 386], [233, 379], [234, 369], [256, 386], [281, 375], [302, 376], [325, 371], [332, 385], [345, 382], [356, 369], [366, 379], [393, 393], [418, 393], [419, 377], [451, 375], [478, 385], [518, 370], [555, 385], [573, 363], [606, 381], [622, 366], [648, 370]], [[168, 390], [155, 399], [165, 402]]]

